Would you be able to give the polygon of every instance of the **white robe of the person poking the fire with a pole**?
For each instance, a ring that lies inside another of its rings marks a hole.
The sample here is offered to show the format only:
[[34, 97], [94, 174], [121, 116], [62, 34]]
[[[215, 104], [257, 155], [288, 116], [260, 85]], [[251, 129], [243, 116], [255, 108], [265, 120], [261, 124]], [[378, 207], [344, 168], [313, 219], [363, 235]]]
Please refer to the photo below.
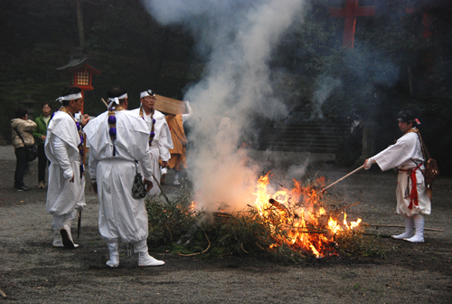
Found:
[[[382, 150], [379, 154], [372, 157], [382, 171], [391, 168], [399, 170], [397, 176], [397, 213], [407, 216], [415, 214], [430, 214], [431, 203], [427, 189], [424, 183], [424, 176], [421, 170], [424, 169], [424, 157], [418, 134], [410, 132], [403, 135], [397, 140], [395, 145], [391, 145]], [[418, 188], [419, 204], [410, 206], [410, 197], [407, 197], [406, 190], [408, 186], [408, 194], [411, 193], [411, 179], [408, 170], [414, 169], [417, 165], [422, 164], [416, 172], [416, 186]], [[401, 171], [403, 170], [403, 171]]]

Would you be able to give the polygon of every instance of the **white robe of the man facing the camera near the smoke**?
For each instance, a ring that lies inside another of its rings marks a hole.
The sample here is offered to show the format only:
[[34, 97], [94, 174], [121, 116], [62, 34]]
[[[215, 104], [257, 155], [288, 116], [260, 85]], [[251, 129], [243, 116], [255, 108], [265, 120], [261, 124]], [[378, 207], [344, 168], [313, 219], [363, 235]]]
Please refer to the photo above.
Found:
[[[139, 116], [140, 109], [133, 109], [133, 113], [136, 113]], [[144, 120], [146, 121], [147, 128], [149, 129], [149, 133], [152, 129], [152, 119], [151, 115], [146, 115], [146, 112], [143, 110]], [[158, 164], [158, 159], [162, 158], [162, 161], [168, 161], [171, 158], [171, 154], [169, 150], [173, 148], [173, 139], [171, 138], [171, 132], [166, 123], [165, 115], [161, 112], [155, 110], [153, 119], [155, 119], [154, 133], [155, 137], [152, 141], [151, 146], [149, 147], [149, 155], [152, 159], [152, 167], [153, 174], [157, 179], [157, 183], [160, 183], [160, 166]], [[149, 137], [147, 138], [149, 140]], [[140, 166], [140, 172], [143, 172], [143, 169]], [[160, 188], [155, 183], [154, 178], [152, 179], [154, 184], [153, 188], [147, 193], [149, 196], [160, 195]]]

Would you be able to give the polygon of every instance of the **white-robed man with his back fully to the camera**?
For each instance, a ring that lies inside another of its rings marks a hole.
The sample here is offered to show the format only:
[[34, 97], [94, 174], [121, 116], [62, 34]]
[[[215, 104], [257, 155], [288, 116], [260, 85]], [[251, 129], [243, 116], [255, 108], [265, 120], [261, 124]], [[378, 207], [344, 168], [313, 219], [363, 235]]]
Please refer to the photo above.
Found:
[[127, 91], [108, 91], [108, 111], [84, 128], [89, 142], [89, 176], [99, 196], [99, 233], [108, 244], [109, 267], [118, 267], [119, 242], [132, 243], [138, 252], [138, 266], [158, 266], [147, 252], [148, 221], [145, 201], [134, 198], [132, 186], [137, 162], [143, 166], [147, 190], [152, 187], [149, 132], [137, 114], [127, 110]]

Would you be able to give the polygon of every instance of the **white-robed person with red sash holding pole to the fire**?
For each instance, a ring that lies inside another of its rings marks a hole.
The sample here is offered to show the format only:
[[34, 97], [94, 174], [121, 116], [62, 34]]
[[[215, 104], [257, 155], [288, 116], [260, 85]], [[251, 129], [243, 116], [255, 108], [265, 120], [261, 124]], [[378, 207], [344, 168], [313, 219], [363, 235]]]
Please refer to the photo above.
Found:
[[[403, 136], [394, 145], [366, 159], [364, 168], [367, 170], [373, 163], [377, 163], [382, 171], [391, 168], [398, 170], [397, 213], [404, 216], [405, 233], [392, 237], [409, 242], [424, 242], [424, 214], [430, 214], [431, 203], [421, 171], [424, 169], [424, 157], [416, 128], [419, 120], [410, 110], [400, 111], [398, 119]], [[413, 228], [416, 228], [414, 236]]]

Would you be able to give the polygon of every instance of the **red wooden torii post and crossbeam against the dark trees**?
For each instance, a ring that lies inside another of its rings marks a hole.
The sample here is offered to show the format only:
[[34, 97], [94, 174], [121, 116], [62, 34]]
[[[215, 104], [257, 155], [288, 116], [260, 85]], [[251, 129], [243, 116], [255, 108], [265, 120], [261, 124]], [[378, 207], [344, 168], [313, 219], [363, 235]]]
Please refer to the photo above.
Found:
[[332, 17], [345, 18], [344, 38], [342, 43], [344, 47], [353, 49], [356, 17], [374, 14], [374, 6], [358, 6], [358, 0], [346, 0], [343, 8], [330, 8], [330, 15]]

